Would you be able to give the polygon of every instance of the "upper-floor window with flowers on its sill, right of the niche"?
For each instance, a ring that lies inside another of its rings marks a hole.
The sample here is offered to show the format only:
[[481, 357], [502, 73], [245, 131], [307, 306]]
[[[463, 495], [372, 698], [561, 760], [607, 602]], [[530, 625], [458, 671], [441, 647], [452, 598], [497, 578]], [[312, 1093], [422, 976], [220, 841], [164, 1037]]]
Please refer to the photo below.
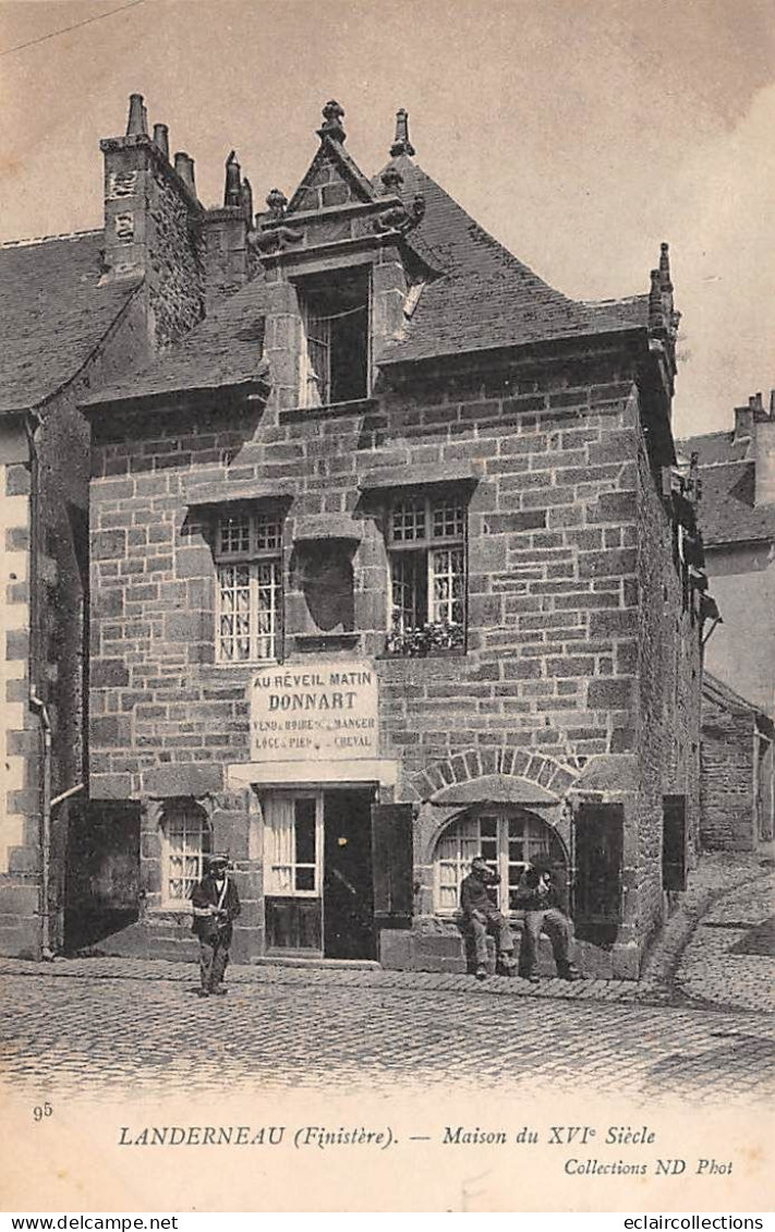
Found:
[[391, 654], [466, 646], [466, 496], [455, 490], [397, 495], [388, 510]]

